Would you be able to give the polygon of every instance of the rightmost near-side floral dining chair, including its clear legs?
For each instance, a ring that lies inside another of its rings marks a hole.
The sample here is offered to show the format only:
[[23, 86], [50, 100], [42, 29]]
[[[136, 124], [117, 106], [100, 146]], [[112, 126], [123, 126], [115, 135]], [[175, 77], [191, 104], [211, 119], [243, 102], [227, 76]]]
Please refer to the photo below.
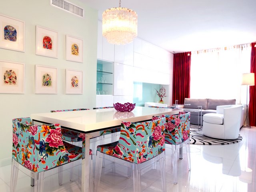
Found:
[[177, 152], [180, 148], [180, 159], [182, 159], [182, 147], [186, 144], [188, 155], [188, 170], [191, 169], [190, 162], [190, 112], [180, 112], [178, 115], [165, 115], [165, 143], [172, 145], [174, 158], [172, 159], [174, 183], [177, 183]]

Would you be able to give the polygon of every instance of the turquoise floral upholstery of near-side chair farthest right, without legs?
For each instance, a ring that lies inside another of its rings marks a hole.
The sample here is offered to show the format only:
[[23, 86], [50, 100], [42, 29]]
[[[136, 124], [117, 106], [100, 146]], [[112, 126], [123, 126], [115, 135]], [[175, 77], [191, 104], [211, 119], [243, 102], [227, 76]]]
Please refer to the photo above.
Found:
[[165, 115], [165, 143], [178, 145], [190, 138], [190, 112]]

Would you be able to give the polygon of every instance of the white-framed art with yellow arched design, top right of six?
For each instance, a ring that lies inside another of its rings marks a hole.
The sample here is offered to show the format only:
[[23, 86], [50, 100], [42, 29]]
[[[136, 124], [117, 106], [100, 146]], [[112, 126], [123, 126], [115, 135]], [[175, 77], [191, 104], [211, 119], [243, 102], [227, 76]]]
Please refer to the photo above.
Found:
[[66, 35], [66, 60], [83, 62], [83, 40]]

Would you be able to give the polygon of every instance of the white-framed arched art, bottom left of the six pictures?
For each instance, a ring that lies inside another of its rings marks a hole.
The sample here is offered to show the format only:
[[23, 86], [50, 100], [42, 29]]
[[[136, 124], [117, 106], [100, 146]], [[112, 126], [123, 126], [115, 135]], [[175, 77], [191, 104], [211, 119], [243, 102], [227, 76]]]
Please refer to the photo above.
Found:
[[24, 64], [0, 61], [0, 93], [24, 93]]

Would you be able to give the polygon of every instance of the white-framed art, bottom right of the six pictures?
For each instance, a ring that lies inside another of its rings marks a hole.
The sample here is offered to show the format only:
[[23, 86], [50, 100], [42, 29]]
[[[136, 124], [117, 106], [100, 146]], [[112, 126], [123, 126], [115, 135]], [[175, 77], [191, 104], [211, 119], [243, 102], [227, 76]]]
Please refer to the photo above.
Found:
[[66, 69], [66, 94], [83, 94], [83, 72]]

